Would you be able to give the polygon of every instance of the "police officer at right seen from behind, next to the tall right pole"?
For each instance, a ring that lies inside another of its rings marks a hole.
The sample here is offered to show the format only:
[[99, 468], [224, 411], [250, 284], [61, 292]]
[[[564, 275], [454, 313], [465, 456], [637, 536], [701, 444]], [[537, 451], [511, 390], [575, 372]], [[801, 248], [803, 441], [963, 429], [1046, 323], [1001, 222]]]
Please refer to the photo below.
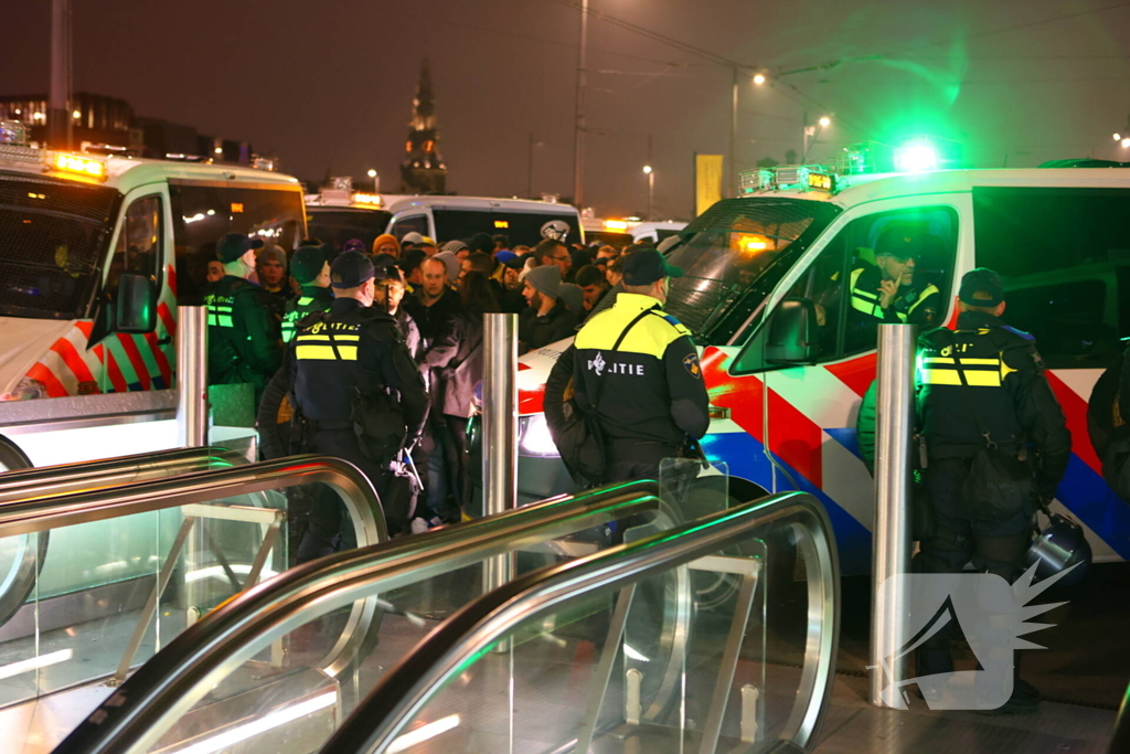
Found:
[[[935, 513], [933, 535], [921, 543], [922, 565], [928, 573], [959, 573], [972, 561], [977, 571], [1012, 582], [1023, 572], [1035, 503], [1054, 496], [1071, 435], [1035, 340], [1000, 319], [1000, 276], [985, 268], [967, 272], [958, 304], [956, 331], [939, 328], [919, 338], [919, 426]], [[979, 485], [974, 458], [984, 449], [1016, 461], [1028, 457], [1027, 468], [1016, 463], [1012, 479], [996, 482], [1019, 483], [1018, 491], [1031, 486], [1033, 500], [997, 510], [980, 502], [984, 485]], [[929, 640], [918, 661], [920, 676], [953, 671], [948, 635]], [[1016, 677], [1011, 699], [998, 712], [1033, 712], [1037, 702], [1038, 692]]]

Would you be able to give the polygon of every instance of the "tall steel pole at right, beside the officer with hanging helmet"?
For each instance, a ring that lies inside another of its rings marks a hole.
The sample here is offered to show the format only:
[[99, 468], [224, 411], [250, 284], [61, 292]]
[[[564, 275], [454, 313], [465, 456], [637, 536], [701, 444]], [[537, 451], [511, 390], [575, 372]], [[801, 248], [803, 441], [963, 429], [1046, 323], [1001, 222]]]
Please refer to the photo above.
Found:
[[[911, 443], [914, 428], [913, 324], [879, 326], [875, 440], [875, 526], [871, 554], [871, 704], [905, 677], [910, 595], [898, 574], [911, 565]], [[890, 579], [888, 586], [884, 583]]]

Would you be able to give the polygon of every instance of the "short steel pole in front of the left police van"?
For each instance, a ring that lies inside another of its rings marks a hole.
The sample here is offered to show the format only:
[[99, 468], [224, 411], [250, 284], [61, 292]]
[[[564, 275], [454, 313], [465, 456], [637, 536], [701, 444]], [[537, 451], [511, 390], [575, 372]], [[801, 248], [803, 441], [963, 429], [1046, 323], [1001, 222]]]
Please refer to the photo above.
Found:
[[208, 444], [208, 310], [179, 306], [176, 425], [182, 448]]

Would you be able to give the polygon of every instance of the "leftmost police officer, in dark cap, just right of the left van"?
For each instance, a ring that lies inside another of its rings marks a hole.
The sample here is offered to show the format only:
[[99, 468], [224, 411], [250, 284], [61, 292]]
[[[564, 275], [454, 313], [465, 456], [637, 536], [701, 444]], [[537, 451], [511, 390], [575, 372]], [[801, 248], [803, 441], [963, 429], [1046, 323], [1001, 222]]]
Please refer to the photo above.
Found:
[[203, 289], [208, 307], [208, 383], [254, 387], [255, 406], [279, 369], [281, 335], [268, 294], [246, 277], [262, 242], [228, 233], [216, 243], [224, 277]]

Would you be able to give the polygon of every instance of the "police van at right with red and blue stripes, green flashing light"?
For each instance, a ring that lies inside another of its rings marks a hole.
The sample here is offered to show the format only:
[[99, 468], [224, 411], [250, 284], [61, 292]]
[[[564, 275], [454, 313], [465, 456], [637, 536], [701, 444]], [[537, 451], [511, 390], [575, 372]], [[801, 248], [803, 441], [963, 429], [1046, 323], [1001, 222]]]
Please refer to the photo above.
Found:
[[[671, 281], [667, 303], [702, 349], [712, 404], [703, 447], [729, 466], [734, 497], [815, 495], [844, 572], [869, 570], [873, 482], [855, 419], [875, 379], [876, 328], [859, 326], [850, 281], [873, 263], [884, 229], [898, 227], [921, 236], [915, 281], [941, 292], [939, 322], [956, 321], [963, 274], [1003, 276], [1005, 320], [1037, 338], [1071, 431], [1054, 506], [1085, 527], [1097, 561], [1130, 558], [1130, 506], [1103, 482], [1087, 433], [1092, 389], [1130, 339], [1130, 170], [782, 166], [741, 185], [680, 233], [669, 259], [686, 277]], [[567, 346], [521, 358], [523, 500], [572, 486], [541, 413], [546, 376]]]

